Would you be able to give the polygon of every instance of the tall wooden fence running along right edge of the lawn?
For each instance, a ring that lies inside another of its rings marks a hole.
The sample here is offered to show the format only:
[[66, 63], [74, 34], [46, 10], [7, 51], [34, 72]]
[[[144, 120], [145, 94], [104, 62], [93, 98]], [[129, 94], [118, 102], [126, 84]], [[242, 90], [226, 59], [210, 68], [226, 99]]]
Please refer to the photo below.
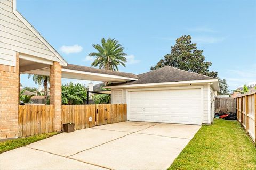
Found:
[[256, 90], [235, 97], [237, 100], [237, 120], [244, 126], [256, 144]]

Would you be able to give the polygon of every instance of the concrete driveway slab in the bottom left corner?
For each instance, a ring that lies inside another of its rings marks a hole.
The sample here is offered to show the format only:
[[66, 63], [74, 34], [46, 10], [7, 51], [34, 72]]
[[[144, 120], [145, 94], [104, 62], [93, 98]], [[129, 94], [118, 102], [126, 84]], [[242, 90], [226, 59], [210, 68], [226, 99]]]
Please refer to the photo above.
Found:
[[49, 154], [27, 147], [21, 147], [0, 154], [0, 169], [104, 169], [102, 167], [78, 162], [77, 160]]

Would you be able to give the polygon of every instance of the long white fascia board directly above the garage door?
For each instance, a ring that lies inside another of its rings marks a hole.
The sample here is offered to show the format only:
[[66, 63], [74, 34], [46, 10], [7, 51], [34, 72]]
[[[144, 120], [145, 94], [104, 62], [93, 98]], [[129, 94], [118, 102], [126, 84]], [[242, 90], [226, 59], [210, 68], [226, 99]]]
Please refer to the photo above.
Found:
[[200, 84], [218, 82], [218, 79], [207, 80], [191, 80], [191, 81], [177, 81], [177, 82], [164, 82], [164, 83], [148, 83], [148, 84], [130, 84], [130, 85], [117, 85], [117, 86], [105, 86], [104, 88], [135, 88], [135, 87], [150, 87], [150, 86], [169, 86], [169, 85], [182, 85], [182, 84]]

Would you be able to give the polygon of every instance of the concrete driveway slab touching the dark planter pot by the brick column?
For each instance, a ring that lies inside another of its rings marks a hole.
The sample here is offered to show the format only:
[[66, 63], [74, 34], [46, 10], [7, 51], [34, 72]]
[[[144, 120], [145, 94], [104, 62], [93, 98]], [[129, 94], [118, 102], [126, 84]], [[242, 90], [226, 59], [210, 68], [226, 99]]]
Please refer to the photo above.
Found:
[[61, 156], [70, 156], [102, 143], [123, 137], [129, 132], [106, 131], [87, 128], [73, 133], [61, 133], [53, 137], [31, 143], [27, 147], [51, 152]]

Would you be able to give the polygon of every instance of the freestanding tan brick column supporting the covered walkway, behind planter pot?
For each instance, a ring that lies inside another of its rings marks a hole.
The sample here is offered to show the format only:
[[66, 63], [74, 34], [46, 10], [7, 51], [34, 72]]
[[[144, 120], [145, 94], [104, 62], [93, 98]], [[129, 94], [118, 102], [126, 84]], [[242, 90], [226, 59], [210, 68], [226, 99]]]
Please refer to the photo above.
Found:
[[53, 62], [50, 66], [50, 105], [54, 106], [55, 132], [61, 131], [61, 66]]

